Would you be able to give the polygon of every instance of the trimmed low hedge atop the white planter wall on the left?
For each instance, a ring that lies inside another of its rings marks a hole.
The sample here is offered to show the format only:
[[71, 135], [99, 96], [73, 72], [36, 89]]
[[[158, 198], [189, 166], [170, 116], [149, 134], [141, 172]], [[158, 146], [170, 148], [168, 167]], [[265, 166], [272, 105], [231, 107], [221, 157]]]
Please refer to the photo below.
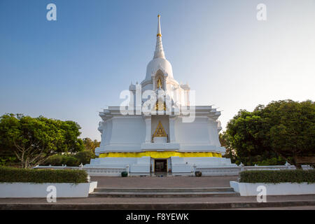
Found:
[[20, 169], [0, 167], [1, 182], [29, 183], [87, 183], [84, 170], [71, 169]]

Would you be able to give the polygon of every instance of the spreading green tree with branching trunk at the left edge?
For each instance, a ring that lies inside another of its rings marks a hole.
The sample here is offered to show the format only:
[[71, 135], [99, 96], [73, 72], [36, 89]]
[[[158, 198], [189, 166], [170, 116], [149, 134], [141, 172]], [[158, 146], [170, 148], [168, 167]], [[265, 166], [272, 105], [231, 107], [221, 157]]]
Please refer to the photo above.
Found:
[[23, 168], [39, 165], [56, 153], [82, 151], [79, 130], [73, 121], [5, 114], [0, 117], [0, 151], [14, 153]]

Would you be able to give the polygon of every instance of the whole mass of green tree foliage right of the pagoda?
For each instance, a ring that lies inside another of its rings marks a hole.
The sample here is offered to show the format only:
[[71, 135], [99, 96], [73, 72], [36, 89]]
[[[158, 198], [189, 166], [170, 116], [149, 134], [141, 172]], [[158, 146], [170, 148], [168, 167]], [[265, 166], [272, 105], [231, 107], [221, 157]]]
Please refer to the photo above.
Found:
[[[232, 159], [245, 165], [266, 161], [297, 165], [298, 156], [315, 155], [315, 104], [290, 99], [241, 110], [221, 136]], [[231, 157], [230, 157], [231, 158]]]

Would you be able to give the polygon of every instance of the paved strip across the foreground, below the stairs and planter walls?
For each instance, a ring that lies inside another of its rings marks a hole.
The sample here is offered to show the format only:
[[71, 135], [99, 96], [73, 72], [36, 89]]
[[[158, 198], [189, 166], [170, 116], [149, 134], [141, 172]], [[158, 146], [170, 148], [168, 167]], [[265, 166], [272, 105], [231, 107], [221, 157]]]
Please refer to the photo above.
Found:
[[269, 196], [267, 203], [255, 197], [177, 197], [177, 198], [58, 198], [0, 199], [1, 209], [93, 209], [93, 210], [190, 210], [190, 209], [315, 209], [315, 195]]

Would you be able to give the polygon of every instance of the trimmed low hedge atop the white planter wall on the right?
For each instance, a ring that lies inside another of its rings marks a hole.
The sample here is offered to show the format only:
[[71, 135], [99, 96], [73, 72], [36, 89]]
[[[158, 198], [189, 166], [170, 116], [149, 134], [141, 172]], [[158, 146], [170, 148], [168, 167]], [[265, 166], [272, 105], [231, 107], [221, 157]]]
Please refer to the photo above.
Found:
[[244, 183], [315, 183], [315, 170], [248, 170], [241, 172]]

